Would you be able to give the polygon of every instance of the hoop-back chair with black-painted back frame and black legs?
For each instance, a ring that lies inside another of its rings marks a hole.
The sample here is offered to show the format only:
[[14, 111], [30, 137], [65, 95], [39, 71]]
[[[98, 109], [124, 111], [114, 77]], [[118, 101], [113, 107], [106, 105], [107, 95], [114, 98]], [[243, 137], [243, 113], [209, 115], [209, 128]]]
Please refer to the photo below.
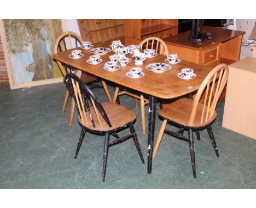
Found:
[[[133, 123], [136, 121], [136, 114], [130, 111], [130, 109], [113, 102], [101, 103], [82, 79], [74, 74], [68, 73], [65, 76], [64, 82], [66, 83], [69, 93], [75, 100], [75, 106], [78, 110], [78, 122], [82, 127], [74, 158], [77, 158], [85, 133], [88, 131], [93, 134], [105, 135], [102, 170], [103, 182], [105, 180], [109, 146], [119, 144], [132, 138], [139, 157], [141, 158], [142, 163], [144, 163], [137, 133], [133, 127]], [[130, 128], [131, 133], [120, 137], [117, 132], [126, 129], [127, 127]], [[117, 139], [110, 141], [110, 135]]]

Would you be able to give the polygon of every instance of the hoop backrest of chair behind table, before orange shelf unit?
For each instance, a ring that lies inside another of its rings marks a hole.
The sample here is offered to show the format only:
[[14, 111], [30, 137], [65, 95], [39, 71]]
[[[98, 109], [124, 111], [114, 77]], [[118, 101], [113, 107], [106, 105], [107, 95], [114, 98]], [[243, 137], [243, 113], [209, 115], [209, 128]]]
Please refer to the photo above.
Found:
[[140, 49], [155, 49], [156, 53], [168, 55], [168, 48], [161, 38], [158, 37], [150, 37], [146, 38], [145, 40], [141, 41], [141, 43], [138, 45], [138, 48]]

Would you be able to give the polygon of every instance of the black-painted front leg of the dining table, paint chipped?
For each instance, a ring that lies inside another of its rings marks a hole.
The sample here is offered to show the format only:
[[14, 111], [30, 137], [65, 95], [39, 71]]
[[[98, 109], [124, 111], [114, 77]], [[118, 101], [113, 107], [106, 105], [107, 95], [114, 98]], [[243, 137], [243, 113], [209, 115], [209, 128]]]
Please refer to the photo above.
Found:
[[156, 98], [149, 96], [148, 105], [148, 174], [152, 172], [152, 156], [154, 148]]

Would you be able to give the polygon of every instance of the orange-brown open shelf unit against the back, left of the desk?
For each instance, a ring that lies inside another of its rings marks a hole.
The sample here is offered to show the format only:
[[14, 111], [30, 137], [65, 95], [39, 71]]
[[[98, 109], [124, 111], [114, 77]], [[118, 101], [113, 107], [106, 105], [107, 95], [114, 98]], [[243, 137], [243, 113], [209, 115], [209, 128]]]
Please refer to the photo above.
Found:
[[161, 19], [135, 19], [124, 20], [125, 45], [139, 44], [150, 36], [161, 39], [178, 33], [178, 20]]

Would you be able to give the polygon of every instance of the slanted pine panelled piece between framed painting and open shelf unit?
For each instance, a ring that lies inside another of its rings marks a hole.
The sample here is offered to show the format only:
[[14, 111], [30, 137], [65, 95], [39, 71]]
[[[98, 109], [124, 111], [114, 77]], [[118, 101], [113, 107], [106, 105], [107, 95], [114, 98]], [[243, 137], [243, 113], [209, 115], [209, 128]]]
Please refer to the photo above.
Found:
[[77, 20], [83, 40], [92, 43], [124, 39], [124, 20]]

